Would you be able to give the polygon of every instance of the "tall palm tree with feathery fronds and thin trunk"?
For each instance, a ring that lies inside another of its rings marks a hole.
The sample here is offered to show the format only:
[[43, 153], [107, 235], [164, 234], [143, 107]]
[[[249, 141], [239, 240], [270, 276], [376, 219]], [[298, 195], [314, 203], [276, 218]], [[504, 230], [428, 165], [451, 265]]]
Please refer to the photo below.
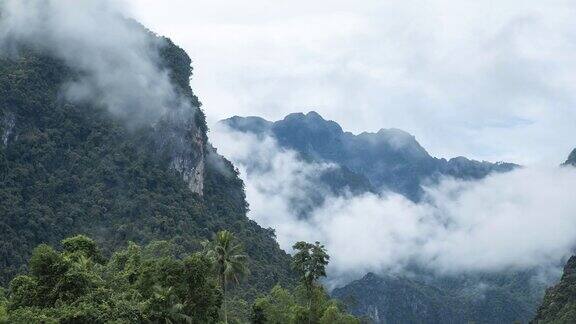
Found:
[[222, 303], [224, 323], [228, 323], [226, 309], [226, 286], [229, 281], [240, 283], [240, 277], [248, 274], [246, 261], [248, 256], [244, 254], [244, 247], [238, 243], [234, 234], [230, 231], [216, 233], [212, 242], [204, 245], [206, 255], [212, 260], [214, 270], [218, 275], [224, 301]]

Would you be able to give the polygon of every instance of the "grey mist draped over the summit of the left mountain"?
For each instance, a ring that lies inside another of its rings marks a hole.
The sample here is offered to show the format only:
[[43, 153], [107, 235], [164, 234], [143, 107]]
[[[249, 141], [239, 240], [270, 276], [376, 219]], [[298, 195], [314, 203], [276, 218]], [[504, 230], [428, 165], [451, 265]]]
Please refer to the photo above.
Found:
[[112, 0], [0, 1], [0, 54], [32, 48], [78, 73], [69, 100], [107, 107], [133, 124], [153, 122], [167, 107], [191, 111], [159, 66], [162, 39], [123, 16]]

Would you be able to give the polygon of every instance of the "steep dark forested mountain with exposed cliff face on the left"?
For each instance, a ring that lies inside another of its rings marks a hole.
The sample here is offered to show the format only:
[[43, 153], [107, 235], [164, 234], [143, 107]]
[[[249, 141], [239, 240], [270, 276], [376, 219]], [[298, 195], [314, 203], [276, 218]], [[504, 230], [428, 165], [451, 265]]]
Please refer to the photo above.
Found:
[[294, 282], [289, 255], [246, 217], [243, 182], [208, 143], [190, 58], [157, 41], [157, 64], [188, 109], [138, 126], [67, 100], [63, 87], [81, 73], [49, 53], [23, 47], [0, 59], [0, 286], [26, 270], [40, 243], [82, 233], [108, 255], [153, 240], [192, 252], [220, 229], [235, 232], [250, 256], [241, 294]]

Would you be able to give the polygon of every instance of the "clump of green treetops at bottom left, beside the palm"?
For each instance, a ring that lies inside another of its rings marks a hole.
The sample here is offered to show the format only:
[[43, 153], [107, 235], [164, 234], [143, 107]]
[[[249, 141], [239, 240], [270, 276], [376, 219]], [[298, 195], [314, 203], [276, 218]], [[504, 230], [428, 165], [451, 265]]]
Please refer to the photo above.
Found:
[[218, 321], [222, 295], [202, 254], [153, 256], [166, 243], [131, 243], [100, 264], [97, 253], [85, 254], [98, 251], [90, 242], [76, 236], [62, 241], [62, 252], [36, 248], [29, 274], [11, 281], [8, 301], [0, 303], [7, 313], [0, 315], [9, 323]]

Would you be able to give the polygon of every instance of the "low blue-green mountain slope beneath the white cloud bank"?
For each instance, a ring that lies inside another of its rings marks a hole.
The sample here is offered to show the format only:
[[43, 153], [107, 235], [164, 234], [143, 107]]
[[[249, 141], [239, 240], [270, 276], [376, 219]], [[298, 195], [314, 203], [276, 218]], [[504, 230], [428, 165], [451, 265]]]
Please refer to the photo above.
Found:
[[374, 323], [527, 322], [543, 287], [531, 273], [443, 277], [367, 274], [332, 296]]

